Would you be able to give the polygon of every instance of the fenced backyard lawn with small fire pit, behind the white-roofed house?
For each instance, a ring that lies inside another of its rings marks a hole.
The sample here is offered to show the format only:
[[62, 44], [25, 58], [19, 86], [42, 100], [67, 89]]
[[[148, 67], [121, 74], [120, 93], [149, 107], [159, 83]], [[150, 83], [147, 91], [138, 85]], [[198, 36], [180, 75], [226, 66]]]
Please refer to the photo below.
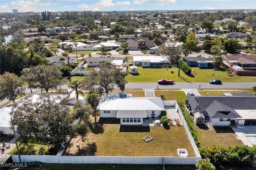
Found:
[[[96, 156], [178, 156], [177, 148], [186, 148], [190, 157], [195, 156], [183, 126], [120, 126], [120, 120], [116, 120], [116, 124], [99, 122], [86, 140], [73, 138], [72, 147], [66, 150], [66, 155], [86, 155], [89, 152], [89, 155]], [[142, 140], [148, 135], [154, 139], [150, 142]], [[76, 139], [80, 151], [76, 147]]]

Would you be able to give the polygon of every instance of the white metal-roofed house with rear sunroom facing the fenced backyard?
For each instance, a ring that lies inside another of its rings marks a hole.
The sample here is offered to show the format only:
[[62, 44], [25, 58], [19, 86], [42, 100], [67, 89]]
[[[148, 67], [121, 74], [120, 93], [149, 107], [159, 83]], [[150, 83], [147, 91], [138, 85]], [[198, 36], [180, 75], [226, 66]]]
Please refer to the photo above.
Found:
[[126, 93], [104, 93], [97, 107], [102, 118], [119, 118], [120, 125], [143, 125], [143, 119], [164, 111], [160, 97], [132, 97]]

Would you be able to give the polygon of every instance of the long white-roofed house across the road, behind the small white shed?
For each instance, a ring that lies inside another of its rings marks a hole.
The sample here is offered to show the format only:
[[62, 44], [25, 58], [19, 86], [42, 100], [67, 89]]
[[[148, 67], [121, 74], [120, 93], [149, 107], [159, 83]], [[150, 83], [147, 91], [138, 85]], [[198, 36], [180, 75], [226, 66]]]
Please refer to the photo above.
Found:
[[133, 56], [133, 61], [136, 66], [160, 68], [170, 65], [168, 56], [154, 55], [154, 56]]

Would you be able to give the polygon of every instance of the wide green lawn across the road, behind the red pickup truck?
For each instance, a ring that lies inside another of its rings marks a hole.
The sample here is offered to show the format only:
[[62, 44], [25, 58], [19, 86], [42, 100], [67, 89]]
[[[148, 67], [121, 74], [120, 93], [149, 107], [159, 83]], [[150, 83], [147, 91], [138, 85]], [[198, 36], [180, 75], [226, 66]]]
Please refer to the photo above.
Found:
[[[130, 57], [128, 57], [128, 60]], [[130, 66], [128, 66], [128, 71]], [[171, 73], [173, 71], [173, 73]], [[192, 75], [186, 75], [180, 69], [180, 77], [178, 77], [178, 68], [142, 68], [138, 67], [139, 75], [131, 75], [128, 73], [126, 80], [129, 83], [157, 82], [159, 79], [174, 79], [176, 82], [209, 82], [211, 79], [220, 79], [222, 82], [255, 82], [256, 76], [238, 76], [227, 75], [225, 69], [214, 71], [212, 69], [200, 69], [192, 67]]]

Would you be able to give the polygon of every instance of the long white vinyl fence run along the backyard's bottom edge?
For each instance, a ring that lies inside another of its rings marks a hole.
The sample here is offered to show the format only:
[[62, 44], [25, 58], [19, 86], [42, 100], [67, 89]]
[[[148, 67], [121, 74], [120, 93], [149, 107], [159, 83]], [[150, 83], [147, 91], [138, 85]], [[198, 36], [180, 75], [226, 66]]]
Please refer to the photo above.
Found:
[[[170, 164], [192, 165], [198, 161], [197, 157], [172, 156], [56, 156], [56, 155], [20, 155], [22, 162], [43, 162], [53, 164]], [[18, 155], [12, 155], [13, 162], [19, 162]]]

